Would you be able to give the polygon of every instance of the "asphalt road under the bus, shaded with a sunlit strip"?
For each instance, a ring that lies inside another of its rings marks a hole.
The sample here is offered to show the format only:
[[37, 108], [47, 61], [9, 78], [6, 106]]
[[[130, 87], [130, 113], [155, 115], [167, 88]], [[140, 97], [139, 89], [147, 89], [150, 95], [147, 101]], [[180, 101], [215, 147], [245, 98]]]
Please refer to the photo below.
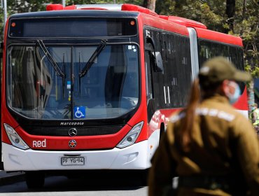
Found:
[[141, 186], [138, 178], [127, 174], [121, 176], [95, 176], [67, 178], [66, 176], [48, 176], [43, 188], [28, 189], [25, 181], [0, 186], [0, 195], [86, 195], [86, 196], [146, 196], [148, 188]]

